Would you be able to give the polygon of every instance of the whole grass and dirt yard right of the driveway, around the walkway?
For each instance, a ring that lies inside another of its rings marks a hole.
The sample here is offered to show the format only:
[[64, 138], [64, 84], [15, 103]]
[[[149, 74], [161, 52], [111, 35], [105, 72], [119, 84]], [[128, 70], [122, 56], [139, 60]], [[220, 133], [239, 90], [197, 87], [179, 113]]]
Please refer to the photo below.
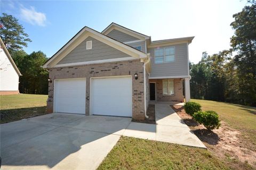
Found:
[[[98, 169], [255, 169], [256, 108], [193, 101], [200, 103], [204, 111], [218, 112], [222, 121], [220, 129], [209, 133], [186, 117], [185, 122], [207, 150], [122, 137]], [[183, 108], [176, 112], [183, 112]]]

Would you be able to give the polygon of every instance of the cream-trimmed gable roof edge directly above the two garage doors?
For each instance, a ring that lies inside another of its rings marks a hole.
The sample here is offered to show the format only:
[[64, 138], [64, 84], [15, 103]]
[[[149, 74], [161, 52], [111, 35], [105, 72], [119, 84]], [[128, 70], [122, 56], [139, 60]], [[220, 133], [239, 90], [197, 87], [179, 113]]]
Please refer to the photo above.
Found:
[[47, 60], [43, 64], [43, 68], [52, 67], [55, 64], [57, 64], [62, 58], [64, 58], [68, 53], [70, 53], [71, 50], [73, 50], [76, 46], [82, 43], [82, 41], [89, 36], [101, 41], [102, 43], [106, 43], [109, 46], [112, 46], [118, 50], [121, 50], [122, 52], [128, 55], [131, 55], [133, 57], [138, 57], [138, 58], [147, 57], [146, 53], [143, 53], [138, 49], [135, 49], [129, 45], [121, 43], [120, 41], [110, 38], [104, 35], [103, 33], [95, 31], [94, 29], [91, 29], [89, 27], [84, 27], [78, 33], [76, 33], [76, 35], [73, 38], [71, 38], [68, 41], [68, 43], [66, 43], [61, 49], [59, 49], [57, 53], [55, 53], [51, 58], [49, 58], [49, 60]]

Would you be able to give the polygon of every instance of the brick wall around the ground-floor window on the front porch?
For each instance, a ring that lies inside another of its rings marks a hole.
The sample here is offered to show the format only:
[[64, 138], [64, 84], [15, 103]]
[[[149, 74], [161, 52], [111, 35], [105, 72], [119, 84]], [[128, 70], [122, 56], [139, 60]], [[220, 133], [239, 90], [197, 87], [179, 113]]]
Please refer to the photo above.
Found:
[[177, 101], [183, 102], [182, 79], [174, 79], [174, 95], [163, 96], [163, 79], [150, 79], [149, 82], [156, 82], [156, 99], [157, 101]]

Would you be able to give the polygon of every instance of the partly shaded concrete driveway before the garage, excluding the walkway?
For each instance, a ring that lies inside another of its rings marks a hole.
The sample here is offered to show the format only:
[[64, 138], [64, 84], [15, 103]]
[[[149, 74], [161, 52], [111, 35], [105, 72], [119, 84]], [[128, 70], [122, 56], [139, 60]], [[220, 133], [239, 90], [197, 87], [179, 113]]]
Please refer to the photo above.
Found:
[[54, 113], [1, 125], [1, 169], [95, 169], [131, 118]]

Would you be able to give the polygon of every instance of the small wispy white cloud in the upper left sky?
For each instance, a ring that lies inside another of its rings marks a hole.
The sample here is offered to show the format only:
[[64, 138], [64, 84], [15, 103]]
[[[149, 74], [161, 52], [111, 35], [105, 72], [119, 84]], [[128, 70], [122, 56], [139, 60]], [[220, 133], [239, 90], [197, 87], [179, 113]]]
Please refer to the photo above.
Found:
[[33, 6], [30, 6], [30, 8], [21, 6], [20, 15], [23, 21], [30, 24], [39, 25], [42, 27], [46, 25], [46, 15], [42, 12], [37, 12]]

